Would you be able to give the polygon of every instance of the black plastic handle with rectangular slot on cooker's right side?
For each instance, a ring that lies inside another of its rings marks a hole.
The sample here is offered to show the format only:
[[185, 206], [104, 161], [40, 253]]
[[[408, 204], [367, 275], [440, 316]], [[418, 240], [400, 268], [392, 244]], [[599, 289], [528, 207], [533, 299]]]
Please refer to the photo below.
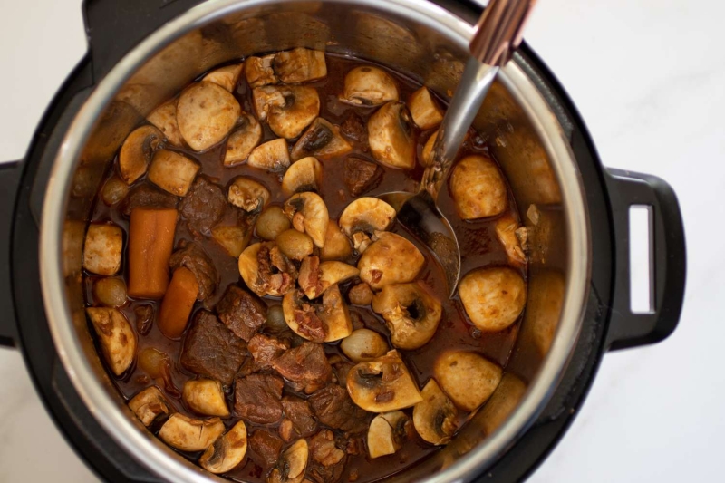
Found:
[[[658, 343], [677, 327], [685, 292], [685, 233], [672, 187], [648, 174], [607, 169], [615, 242], [612, 315], [607, 332], [610, 350]], [[652, 311], [633, 314], [630, 292], [629, 215], [633, 206], [651, 207], [650, 261]]]

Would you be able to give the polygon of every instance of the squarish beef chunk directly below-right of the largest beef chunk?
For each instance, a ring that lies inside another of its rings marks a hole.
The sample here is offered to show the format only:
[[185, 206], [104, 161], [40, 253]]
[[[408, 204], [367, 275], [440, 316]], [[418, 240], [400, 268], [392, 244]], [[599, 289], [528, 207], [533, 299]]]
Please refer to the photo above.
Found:
[[249, 374], [237, 378], [234, 411], [237, 416], [258, 424], [271, 424], [282, 418], [282, 389], [285, 382], [271, 374]]

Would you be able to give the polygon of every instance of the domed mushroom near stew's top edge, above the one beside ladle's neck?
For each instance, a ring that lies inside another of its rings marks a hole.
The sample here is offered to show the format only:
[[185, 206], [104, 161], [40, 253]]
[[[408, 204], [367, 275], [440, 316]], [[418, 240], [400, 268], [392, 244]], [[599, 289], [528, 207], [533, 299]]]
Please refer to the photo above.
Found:
[[372, 65], [355, 67], [345, 75], [345, 87], [340, 101], [362, 106], [379, 106], [398, 101], [398, 86], [392, 77]]

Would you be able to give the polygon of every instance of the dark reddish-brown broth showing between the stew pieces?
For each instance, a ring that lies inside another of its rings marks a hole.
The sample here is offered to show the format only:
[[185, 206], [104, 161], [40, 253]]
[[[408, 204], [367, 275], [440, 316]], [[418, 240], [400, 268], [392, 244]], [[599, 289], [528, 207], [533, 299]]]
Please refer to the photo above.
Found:
[[[333, 124], [341, 124], [350, 111], [355, 112], [362, 118], [363, 122], [366, 122], [368, 118], [375, 111], [375, 108], [370, 107], [353, 107], [349, 104], [345, 104], [337, 99], [337, 96], [343, 90], [344, 76], [346, 72], [349, 72], [353, 67], [370, 64], [362, 62], [360, 60], [353, 60], [351, 58], [338, 56], [338, 55], [326, 55], [328, 75], [327, 77], [319, 82], [312, 82], [308, 85], [317, 88], [320, 93], [321, 109], [320, 116], [327, 121], [333, 122]], [[380, 67], [380, 66], [379, 66]], [[398, 82], [401, 101], [407, 101], [412, 92], [420, 88], [420, 83], [413, 82], [411, 79], [401, 76], [400, 73], [385, 69], [391, 74], [391, 76]], [[234, 92], [237, 101], [239, 101], [242, 109], [247, 112], [254, 112], [252, 107], [252, 93], [251, 89], [248, 88], [247, 82], [244, 79], [244, 75], [241, 76], [237, 84], [237, 89]], [[445, 106], [445, 102], [440, 98], [437, 100], [441, 106]], [[275, 139], [275, 135], [269, 129], [266, 124], [262, 124], [264, 129], [264, 139], [266, 140]], [[417, 152], [420, 159], [420, 151], [426, 140], [434, 130], [428, 130], [417, 132]], [[353, 151], [346, 154], [343, 157], [333, 159], [320, 159], [320, 162], [324, 165], [324, 180], [320, 195], [324, 198], [325, 204], [329, 210], [331, 222], [337, 220], [342, 213], [343, 209], [353, 201], [353, 197], [348, 193], [347, 188], [343, 183], [343, 172], [344, 172], [344, 159], [348, 156], [361, 157], [374, 161], [372, 154], [369, 152], [369, 148], [357, 141], [348, 141], [353, 145]], [[290, 147], [294, 145], [294, 142], [290, 141]], [[246, 163], [237, 165], [232, 168], [225, 168], [222, 162], [224, 156], [224, 150], [226, 146], [226, 140], [220, 143], [217, 147], [207, 150], [202, 153], [198, 153], [189, 149], [179, 149], [173, 146], [167, 146], [167, 149], [178, 150], [183, 152], [192, 159], [198, 159], [201, 164], [201, 170], [199, 174], [207, 176], [209, 179], [217, 182], [223, 187], [227, 187], [231, 179], [236, 178], [240, 175], [245, 175], [256, 179], [263, 183], [266, 188], [269, 189], [271, 194], [270, 204], [282, 205], [285, 202], [285, 195], [281, 189], [281, 179], [283, 173], [269, 173], [264, 170], [255, 169], [249, 167]], [[488, 148], [485, 143], [480, 140], [475, 132], [471, 131], [469, 140], [463, 145], [460, 155], [466, 155], [471, 153], [483, 153], [490, 157]], [[114, 162], [112, 168], [109, 170], [107, 179], [111, 178], [117, 172], [118, 163]], [[382, 165], [381, 165], [382, 167]], [[415, 192], [418, 189], [420, 178], [422, 176], [423, 169], [420, 167], [420, 163], [417, 164], [416, 168], [411, 171], [403, 171], [400, 169], [390, 169], [382, 167], [383, 176], [381, 182], [371, 190], [362, 193], [361, 196], [375, 196], [377, 194], [389, 192], [389, 191], [411, 191]], [[138, 183], [149, 183], [150, 181], [141, 179]], [[226, 190], [225, 190], [226, 195]], [[507, 254], [503, 246], [498, 242], [495, 234], [494, 223], [498, 217], [485, 218], [476, 221], [464, 221], [459, 218], [456, 213], [455, 203], [450, 197], [449, 187], [444, 186], [440, 191], [440, 197], [438, 200], [440, 210], [448, 217], [451, 225], [453, 226], [456, 234], [459, 238], [460, 250], [461, 250], [461, 275], [465, 275], [470, 270], [481, 266], [507, 266]], [[124, 238], [128, 238], [129, 219], [125, 217], [121, 212], [121, 204], [108, 207], [106, 206], [100, 197], [97, 198], [94, 208], [92, 211], [92, 222], [108, 222], [112, 221], [116, 225], [120, 226], [124, 231]], [[508, 208], [507, 213], [512, 215], [515, 219], [519, 219], [518, 211], [513, 197], [511, 196], [510, 189], [508, 190]], [[506, 216], [504, 213], [501, 216]], [[224, 223], [224, 219], [220, 223]], [[253, 220], [249, 220], [252, 222]], [[481, 332], [476, 329], [473, 325], [467, 322], [467, 317], [464, 312], [463, 306], [456, 295], [453, 299], [449, 298], [447, 293], [447, 286], [445, 282], [445, 276], [443, 275], [442, 268], [430, 253], [430, 251], [423, 246], [419, 240], [414, 239], [407, 232], [404, 227], [401, 227], [400, 223], [395, 224], [391, 231], [396, 232], [403, 237], [411, 240], [418, 248], [420, 252], [426, 257], [426, 265], [423, 267], [419, 279], [423, 280], [426, 285], [430, 287], [432, 292], [438, 297], [443, 307], [443, 315], [440, 320], [440, 325], [436, 335], [423, 347], [415, 351], [399, 351], [407, 363], [412, 375], [417, 379], [420, 389], [425, 385], [426, 382], [432, 376], [432, 366], [438, 354], [443, 353], [449, 349], [463, 349], [475, 351], [481, 353], [493, 362], [497, 362], [499, 365], [505, 367], [511, 349], [516, 341], [518, 328], [521, 320], [521, 316], [515, 324], [509, 326], [506, 330], [497, 333]], [[177, 224], [175, 246], [179, 244], [182, 239], [194, 240], [200, 246], [204, 248], [208, 256], [211, 257], [215, 266], [218, 270], [219, 285], [216, 294], [210, 298], [206, 303], [206, 308], [213, 310], [214, 305], [217, 304], [218, 300], [225, 293], [227, 286], [236, 284], [245, 286], [241, 280], [239, 271], [237, 268], [237, 259], [227, 255], [227, 252], [217, 244], [211, 237], [194, 237], [186, 226], [186, 222], [179, 217]], [[124, 240], [124, 249], [127, 249], [127, 244]], [[253, 244], [259, 241], [256, 236], [253, 236], [249, 244]], [[128, 266], [125, 263], [126, 255], [124, 254], [122, 263], [122, 271], [120, 276], [126, 277]], [[356, 257], [347, 262], [355, 264]], [[514, 267], [514, 266], [512, 266]], [[516, 267], [514, 267], [516, 268]], [[526, 267], [517, 268], [519, 273], [526, 279]], [[85, 295], [89, 305], [93, 305], [92, 296], [92, 282], [97, 279], [96, 275], [86, 274], [85, 277]], [[354, 285], [356, 280], [344, 285], [341, 285], [341, 291], [343, 295], [347, 294], [349, 287]], [[263, 298], [268, 306], [281, 304], [281, 297], [266, 296]], [[158, 313], [160, 301], [150, 300], [134, 300], [129, 299], [129, 302], [121, 307], [121, 312], [131, 322], [131, 326], [136, 331], [136, 315], [134, 314], [134, 308], [140, 304], [152, 304], [154, 306], [155, 315]], [[205, 304], [197, 302], [194, 307], [194, 313], [205, 307]], [[390, 337], [388, 330], [385, 327], [382, 317], [372, 312], [370, 306], [355, 306], [350, 305], [351, 313], [359, 314], [362, 318], [363, 323], [369, 329], [382, 333], [382, 335], [388, 340], [390, 344]], [[191, 315], [193, 318], [193, 313]], [[264, 327], [262, 328], [264, 332]], [[150, 329], [150, 332], [146, 335], [140, 335], [138, 337], [138, 352], [142, 351], [147, 347], [152, 347], [160, 350], [161, 352], [167, 353], [170, 360], [172, 361], [171, 366], [171, 378], [176, 386], [177, 390], [180, 391], [183, 388], [184, 382], [189, 379], [194, 379], [195, 374], [186, 371], [181, 367], [179, 363], [179, 357], [181, 353], [181, 347], [183, 344], [183, 336], [179, 341], [169, 340], [160, 333], [156, 324]], [[390, 344], [392, 347], [392, 344]], [[342, 354], [339, 349], [338, 343], [326, 343], [324, 344], [325, 352], [328, 354]], [[138, 366], [137, 362], [131, 365], [131, 368], [121, 375], [119, 378], [112, 376], [109, 372], [111, 379], [116, 383], [121, 394], [130, 400], [138, 391], [145, 389], [151, 384], [157, 384], [164, 395], [169, 401], [176, 407], [178, 411], [188, 414], [192, 417], [198, 417], [197, 414], [190, 411], [181, 400], [179, 394], [173, 394], [173, 391], [169, 392], [165, 389], [161, 381], [155, 382], [145, 372], [143, 372]], [[227, 390], [227, 404], [230, 408], [234, 408], [234, 391], [233, 388], [226, 388]], [[285, 386], [285, 393], [293, 393], [288, 387]], [[297, 393], [300, 397], [305, 397], [304, 394]], [[412, 409], [404, 410], [408, 414], [412, 413]], [[466, 418], [466, 414], [461, 414], [460, 423], [462, 424]], [[227, 418], [225, 424], [227, 428], [230, 428], [238, 418]], [[264, 425], [257, 425], [254, 423], [247, 423], [247, 434], [251, 435], [254, 430]], [[269, 430], [276, 432], [278, 423], [271, 425]], [[321, 425], [321, 427], [324, 427]], [[336, 433], [340, 434], [340, 431], [335, 430]], [[358, 435], [357, 438], [364, 436]], [[288, 446], [285, 444], [285, 447]], [[408, 440], [397, 453], [393, 455], [384, 456], [377, 459], [368, 459], [366, 451], [363, 449], [362, 453], [357, 456], [350, 456], [347, 459], [343, 477], [341, 481], [347, 481], [348, 479], [355, 480], [354, 477], [350, 477], [351, 472], [357, 474], [359, 478], [357, 481], [367, 482], [374, 481], [385, 476], [390, 476], [393, 473], [399, 472], [402, 469], [414, 464], [416, 461], [425, 458], [431, 452], [435, 451], [437, 447], [430, 445], [415, 433], [411, 431], [411, 439]], [[284, 448], [283, 448], [284, 451]], [[187, 458], [196, 461], [199, 453], [182, 453]], [[237, 467], [225, 476], [227, 478], [244, 480], [244, 481], [264, 481], [266, 477], [265, 465], [261, 462], [257, 462], [256, 455], [252, 451], [247, 451], [246, 459]]]

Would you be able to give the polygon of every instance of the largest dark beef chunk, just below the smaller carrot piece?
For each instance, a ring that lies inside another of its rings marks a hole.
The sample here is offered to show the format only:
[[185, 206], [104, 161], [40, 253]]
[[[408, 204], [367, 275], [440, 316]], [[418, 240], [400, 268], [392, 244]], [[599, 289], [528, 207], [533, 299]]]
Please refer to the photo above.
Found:
[[181, 351], [181, 365], [185, 369], [231, 384], [246, 357], [247, 343], [221, 324], [214, 314], [197, 313]]

